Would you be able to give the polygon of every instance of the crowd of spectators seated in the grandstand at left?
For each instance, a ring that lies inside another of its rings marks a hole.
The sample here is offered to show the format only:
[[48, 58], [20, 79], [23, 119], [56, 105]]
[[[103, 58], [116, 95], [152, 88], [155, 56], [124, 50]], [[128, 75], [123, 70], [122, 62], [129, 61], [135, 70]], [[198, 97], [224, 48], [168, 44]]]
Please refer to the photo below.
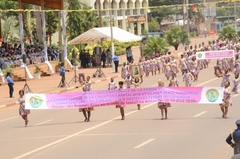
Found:
[[[35, 43], [25, 47], [26, 64], [38, 64], [45, 61], [44, 47]], [[61, 51], [58, 48], [48, 47], [48, 60], [57, 60]], [[2, 42], [0, 47], [0, 68], [3, 69], [11, 65], [20, 67], [23, 65], [21, 44], [9, 44]]]

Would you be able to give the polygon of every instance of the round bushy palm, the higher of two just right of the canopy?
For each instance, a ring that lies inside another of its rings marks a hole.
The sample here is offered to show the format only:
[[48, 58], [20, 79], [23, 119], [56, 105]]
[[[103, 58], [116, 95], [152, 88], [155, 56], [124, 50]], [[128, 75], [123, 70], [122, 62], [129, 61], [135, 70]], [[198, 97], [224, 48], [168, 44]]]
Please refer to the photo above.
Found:
[[187, 32], [180, 27], [173, 27], [165, 33], [165, 39], [168, 44], [178, 50], [180, 44], [188, 45], [190, 43]]

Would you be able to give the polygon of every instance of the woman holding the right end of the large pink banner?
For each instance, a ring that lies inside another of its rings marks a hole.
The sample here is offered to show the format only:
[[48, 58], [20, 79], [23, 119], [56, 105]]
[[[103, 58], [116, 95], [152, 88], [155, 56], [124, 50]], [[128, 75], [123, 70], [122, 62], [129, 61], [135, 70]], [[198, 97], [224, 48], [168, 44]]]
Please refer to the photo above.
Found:
[[224, 92], [223, 92], [223, 100], [222, 100], [223, 103], [219, 105], [223, 113], [222, 118], [227, 118], [228, 107], [232, 106], [232, 100], [230, 98], [230, 95], [231, 95], [230, 82], [226, 81], [224, 83]]

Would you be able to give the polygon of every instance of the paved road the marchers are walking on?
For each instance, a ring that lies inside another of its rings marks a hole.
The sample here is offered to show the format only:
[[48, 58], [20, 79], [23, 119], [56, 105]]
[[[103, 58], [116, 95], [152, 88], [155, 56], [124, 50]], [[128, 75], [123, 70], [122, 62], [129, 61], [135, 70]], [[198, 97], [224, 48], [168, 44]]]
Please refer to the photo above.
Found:
[[[220, 85], [221, 79], [213, 75], [213, 64], [200, 72], [195, 86]], [[156, 86], [159, 78], [166, 82], [160, 74], [144, 78], [142, 87]], [[106, 89], [107, 83], [95, 84], [93, 89]], [[89, 123], [83, 122], [83, 115], [75, 109], [35, 110], [29, 115], [29, 126], [24, 127], [18, 106], [7, 107], [0, 111], [0, 158], [230, 158], [232, 149], [225, 138], [235, 128], [240, 111], [239, 96], [232, 97], [228, 119], [221, 118], [218, 105], [173, 104], [169, 119], [160, 120], [157, 104], [150, 103], [140, 111], [136, 105], [126, 107], [125, 121], [114, 106], [96, 108]]]

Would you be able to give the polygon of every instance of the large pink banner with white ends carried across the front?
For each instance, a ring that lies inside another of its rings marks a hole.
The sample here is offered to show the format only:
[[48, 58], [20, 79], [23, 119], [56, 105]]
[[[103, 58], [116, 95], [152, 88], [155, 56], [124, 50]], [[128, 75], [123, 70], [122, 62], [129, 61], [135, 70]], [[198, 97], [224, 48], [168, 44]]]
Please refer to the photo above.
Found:
[[152, 87], [122, 90], [74, 92], [64, 94], [27, 94], [27, 109], [69, 109], [151, 102], [207, 103], [222, 102], [221, 87]]

